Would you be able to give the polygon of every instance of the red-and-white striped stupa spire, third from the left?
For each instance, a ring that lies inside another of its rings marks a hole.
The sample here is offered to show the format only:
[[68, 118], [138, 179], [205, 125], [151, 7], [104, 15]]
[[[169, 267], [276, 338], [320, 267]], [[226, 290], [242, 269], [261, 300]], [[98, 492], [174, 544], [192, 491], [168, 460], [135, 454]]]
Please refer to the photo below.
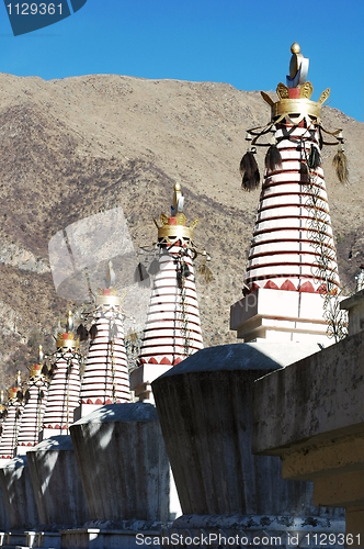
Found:
[[[42, 440], [57, 435], [69, 435], [73, 412], [80, 403], [79, 340], [72, 332], [58, 334], [57, 352], [53, 365], [46, 410], [43, 418]], [[41, 440], [39, 438], [39, 440]]]

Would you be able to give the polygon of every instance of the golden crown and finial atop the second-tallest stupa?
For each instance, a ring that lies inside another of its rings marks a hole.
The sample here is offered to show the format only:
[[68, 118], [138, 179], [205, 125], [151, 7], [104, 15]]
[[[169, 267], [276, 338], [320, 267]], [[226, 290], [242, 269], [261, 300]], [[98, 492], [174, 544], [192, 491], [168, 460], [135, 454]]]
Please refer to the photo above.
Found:
[[193, 229], [198, 223], [198, 217], [192, 221], [190, 226], [186, 226], [186, 217], [183, 213], [184, 198], [181, 190], [181, 184], [175, 183], [173, 187], [173, 201], [172, 201], [171, 215], [164, 213], [160, 214], [161, 226], [157, 220], [153, 219], [158, 228], [158, 238], [168, 244], [177, 240], [184, 243], [185, 240], [193, 239]]

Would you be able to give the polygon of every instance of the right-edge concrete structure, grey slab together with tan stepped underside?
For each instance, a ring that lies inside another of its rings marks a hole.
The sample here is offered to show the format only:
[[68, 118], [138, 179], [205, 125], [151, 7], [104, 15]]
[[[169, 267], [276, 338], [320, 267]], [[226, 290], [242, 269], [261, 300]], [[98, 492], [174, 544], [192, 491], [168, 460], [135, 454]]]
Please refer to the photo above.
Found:
[[254, 383], [253, 451], [314, 481], [314, 504], [345, 507], [351, 547], [364, 544], [363, 356], [361, 332]]

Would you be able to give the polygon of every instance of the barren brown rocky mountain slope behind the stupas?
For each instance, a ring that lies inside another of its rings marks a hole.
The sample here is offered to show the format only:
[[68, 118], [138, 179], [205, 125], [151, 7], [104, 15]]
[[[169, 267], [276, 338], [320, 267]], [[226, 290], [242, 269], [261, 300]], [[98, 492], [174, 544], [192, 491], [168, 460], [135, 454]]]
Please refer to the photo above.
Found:
[[[168, 213], [174, 181], [195, 243], [213, 261], [197, 277], [205, 345], [235, 341], [229, 306], [241, 296], [259, 190], [240, 189], [249, 127], [269, 121], [259, 92], [227, 83], [94, 75], [45, 81], [0, 75], [0, 385], [25, 370], [73, 303], [57, 295], [48, 242], [69, 224], [123, 209], [134, 246], [156, 240], [152, 217]], [[346, 138], [350, 184], [323, 169], [346, 292], [363, 262], [364, 124], [323, 108], [323, 125]], [[263, 166], [263, 150], [258, 159]], [[79, 304], [78, 304], [79, 305]]]

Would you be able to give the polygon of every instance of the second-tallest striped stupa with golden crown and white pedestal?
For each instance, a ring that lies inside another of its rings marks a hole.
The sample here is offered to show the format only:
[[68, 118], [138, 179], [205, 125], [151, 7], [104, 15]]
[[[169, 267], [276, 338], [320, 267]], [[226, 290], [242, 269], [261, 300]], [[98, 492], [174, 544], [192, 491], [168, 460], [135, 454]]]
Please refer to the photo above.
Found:
[[132, 390], [141, 400], [151, 399], [149, 383], [153, 379], [203, 348], [191, 250], [193, 227], [197, 221], [192, 222], [191, 227], [186, 226], [180, 189], [177, 183], [175, 213], [160, 217], [159, 270], [153, 279], [139, 351], [140, 366], [130, 374]]

